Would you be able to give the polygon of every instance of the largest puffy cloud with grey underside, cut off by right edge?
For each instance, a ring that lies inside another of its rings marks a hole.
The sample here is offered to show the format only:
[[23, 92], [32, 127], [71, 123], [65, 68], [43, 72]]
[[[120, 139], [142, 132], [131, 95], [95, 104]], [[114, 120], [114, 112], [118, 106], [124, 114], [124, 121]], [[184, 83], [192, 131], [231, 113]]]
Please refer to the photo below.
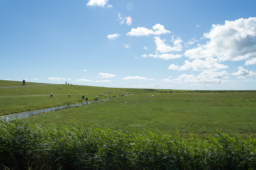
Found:
[[224, 25], [213, 24], [204, 38], [210, 39], [206, 44], [185, 51], [190, 59], [217, 57], [219, 61], [251, 60], [256, 58], [256, 18], [225, 21]]

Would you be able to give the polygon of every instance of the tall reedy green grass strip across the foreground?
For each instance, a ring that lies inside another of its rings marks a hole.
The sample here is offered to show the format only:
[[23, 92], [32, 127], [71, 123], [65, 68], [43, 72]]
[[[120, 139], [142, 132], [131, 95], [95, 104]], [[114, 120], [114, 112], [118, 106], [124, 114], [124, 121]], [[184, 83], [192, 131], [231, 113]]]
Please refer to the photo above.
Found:
[[203, 141], [158, 130], [0, 123], [0, 169], [255, 169], [256, 138], [219, 132]]

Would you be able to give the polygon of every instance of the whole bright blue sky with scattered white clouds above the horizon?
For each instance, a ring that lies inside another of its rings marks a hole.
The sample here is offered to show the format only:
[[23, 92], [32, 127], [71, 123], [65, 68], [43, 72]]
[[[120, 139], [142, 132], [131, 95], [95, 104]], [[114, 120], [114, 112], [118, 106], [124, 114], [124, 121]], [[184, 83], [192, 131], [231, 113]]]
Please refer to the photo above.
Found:
[[0, 0], [0, 80], [256, 89], [255, 0]]

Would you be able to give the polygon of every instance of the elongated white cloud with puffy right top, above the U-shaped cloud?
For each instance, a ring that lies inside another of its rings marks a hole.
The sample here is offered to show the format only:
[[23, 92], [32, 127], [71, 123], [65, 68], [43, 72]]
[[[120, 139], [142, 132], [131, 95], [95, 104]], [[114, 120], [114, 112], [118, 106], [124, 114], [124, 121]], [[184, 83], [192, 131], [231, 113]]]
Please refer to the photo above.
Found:
[[128, 32], [126, 35], [148, 36], [148, 35], [161, 35], [161, 34], [171, 33], [171, 31], [165, 30], [165, 28], [161, 24], [155, 24], [155, 26], [153, 26], [153, 30], [148, 30], [147, 28], [144, 28], [144, 27], [132, 28], [131, 32]]

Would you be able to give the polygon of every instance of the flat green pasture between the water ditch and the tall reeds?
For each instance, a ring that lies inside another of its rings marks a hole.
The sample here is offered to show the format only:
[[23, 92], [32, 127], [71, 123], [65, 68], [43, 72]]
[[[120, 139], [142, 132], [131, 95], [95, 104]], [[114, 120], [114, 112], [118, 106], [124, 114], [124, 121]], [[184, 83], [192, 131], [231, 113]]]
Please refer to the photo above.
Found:
[[[148, 97], [154, 95], [155, 97]], [[71, 120], [87, 127], [104, 125], [128, 130], [155, 128], [206, 138], [218, 130], [253, 136], [256, 131], [256, 93], [140, 93], [116, 99], [30, 116], [32, 123], [67, 125]]]

